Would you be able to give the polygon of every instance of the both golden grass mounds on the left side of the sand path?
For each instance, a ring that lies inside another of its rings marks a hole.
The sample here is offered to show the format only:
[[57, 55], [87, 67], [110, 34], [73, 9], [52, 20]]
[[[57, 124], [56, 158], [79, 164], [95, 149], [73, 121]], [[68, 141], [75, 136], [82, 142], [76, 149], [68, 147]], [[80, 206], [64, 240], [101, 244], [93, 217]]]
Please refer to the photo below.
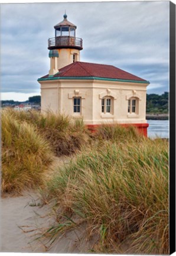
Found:
[[43, 184], [53, 156], [75, 153], [89, 140], [82, 120], [51, 112], [1, 111], [2, 193]]

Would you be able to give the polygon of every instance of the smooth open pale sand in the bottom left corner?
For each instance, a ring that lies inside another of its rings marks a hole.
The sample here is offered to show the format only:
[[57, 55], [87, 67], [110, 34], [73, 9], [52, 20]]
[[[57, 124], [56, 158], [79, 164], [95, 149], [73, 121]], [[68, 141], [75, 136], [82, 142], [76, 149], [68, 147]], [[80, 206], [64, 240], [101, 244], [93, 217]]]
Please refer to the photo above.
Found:
[[41, 242], [32, 242], [38, 233], [36, 228], [46, 227], [51, 221], [46, 216], [48, 206], [37, 206], [39, 203], [34, 191], [1, 199], [1, 252], [45, 251]]

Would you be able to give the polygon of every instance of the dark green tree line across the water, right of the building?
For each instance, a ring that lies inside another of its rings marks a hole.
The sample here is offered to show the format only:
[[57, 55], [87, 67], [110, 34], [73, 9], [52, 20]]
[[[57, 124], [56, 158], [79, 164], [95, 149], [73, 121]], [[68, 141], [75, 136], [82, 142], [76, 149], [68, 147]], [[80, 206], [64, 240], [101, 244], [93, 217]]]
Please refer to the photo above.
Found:
[[147, 114], [167, 114], [169, 105], [169, 93], [162, 95], [146, 94], [146, 113]]

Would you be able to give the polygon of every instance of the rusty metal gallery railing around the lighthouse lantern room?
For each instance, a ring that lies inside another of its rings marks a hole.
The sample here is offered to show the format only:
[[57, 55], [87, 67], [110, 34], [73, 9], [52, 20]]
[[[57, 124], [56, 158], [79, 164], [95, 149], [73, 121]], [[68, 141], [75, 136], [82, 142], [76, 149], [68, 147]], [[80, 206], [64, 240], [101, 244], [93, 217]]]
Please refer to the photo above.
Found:
[[71, 47], [83, 49], [83, 40], [78, 37], [59, 36], [48, 39], [48, 49]]

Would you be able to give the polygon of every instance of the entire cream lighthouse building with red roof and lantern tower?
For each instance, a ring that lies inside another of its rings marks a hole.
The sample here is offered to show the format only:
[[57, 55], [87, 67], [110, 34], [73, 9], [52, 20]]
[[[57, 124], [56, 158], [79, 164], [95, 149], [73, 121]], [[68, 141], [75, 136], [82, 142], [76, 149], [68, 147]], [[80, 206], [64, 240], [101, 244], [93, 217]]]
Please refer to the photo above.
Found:
[[64, 20], [48, 40], [50, 71], [38, 79], [41, 111], [69, 114], [89, 127], [131, 124], [146, 135], [146, 87], [149, 82], [111, 65], [80, 62], [83, 40], [76, 25]]

